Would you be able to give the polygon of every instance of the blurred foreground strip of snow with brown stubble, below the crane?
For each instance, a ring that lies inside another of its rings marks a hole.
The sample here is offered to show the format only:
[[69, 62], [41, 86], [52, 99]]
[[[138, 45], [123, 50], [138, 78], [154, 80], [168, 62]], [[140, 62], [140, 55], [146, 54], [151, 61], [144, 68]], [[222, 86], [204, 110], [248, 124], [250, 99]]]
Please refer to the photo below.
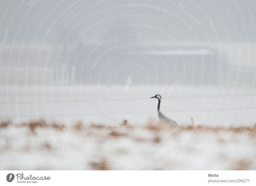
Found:
[[1, 128], [1, 169], [256, 169], [255, 126], [174, 130], [154, 122], [39, 125]]

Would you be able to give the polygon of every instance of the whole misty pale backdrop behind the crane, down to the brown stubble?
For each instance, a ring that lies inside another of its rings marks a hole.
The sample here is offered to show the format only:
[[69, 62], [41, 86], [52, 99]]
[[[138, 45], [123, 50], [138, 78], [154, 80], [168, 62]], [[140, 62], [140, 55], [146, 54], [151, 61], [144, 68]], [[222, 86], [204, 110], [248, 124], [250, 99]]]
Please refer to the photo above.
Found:
[[3, 1], [1, 117], [136, 123], [156, 116], [148, 98], [161, 94], [179, 123], [250, 126], [255, 5]]

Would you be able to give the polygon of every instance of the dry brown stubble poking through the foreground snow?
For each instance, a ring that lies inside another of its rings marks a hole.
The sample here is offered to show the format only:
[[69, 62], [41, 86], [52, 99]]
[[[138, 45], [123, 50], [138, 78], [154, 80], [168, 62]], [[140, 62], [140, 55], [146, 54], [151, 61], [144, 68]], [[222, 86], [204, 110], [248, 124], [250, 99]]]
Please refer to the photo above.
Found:
[[[87, 138], [92, 139], [93, 143], [96, 142], [96, 143], [108, 145], [108, 141], [107, 141], [108, 139], [110, 139], [109, 142], [110, 142], [110, 144], [112, 144], [113, 142], [115, 143], [115, 140], [118, 141], [121, 138], [125, 138], [125, 140], [128, 139], [128, 140], [131, 140], [132, 142], [138, 143], [140, 145], [151, 143], [151, 145], [154, 146], [154, 149], [158, 148], [159, 143], [160, 143], [160, 145], [162, 145], [162, 144], [169, 143], [170, 141], [173, 141], [173, 139], [182, 135], [183, 132], [185, 133], [185, 136], [190, 135], [191, 133], [195, 133], [195, 134], [205, 133], [205, 135], [211, 135], [213, 133], [214, 137], [218, 137], [218, 138], [214, 139], [216, 142], [218, 142], [216, 144], [217, 147], [218, 147], [218, 145], [221, 147], [221, 145], [223, 145], [223, 144], [226, 145], [226, 144], [233, 143], [234, 139], [232, 137], [228, 138], [228, 139], [225, 138], [226, 132], [236, 133], [236, 134], [241, 133], [241, 135], [243, 137], [244, 136], [246, 138], [251, 137], [252, 141], [255, 140], [255, 136], [256, 136], [256, 125], [253, 125], [252, 127], [209, 127], [209, 126], [204, 126], [204, 125], [194, 126], [194, 125], [192, 125], [193, 123], [191, 123], [191, 125], [189, 125], [189, 126], [178, 126], [177, 128], [172, 128], [168, 124], [165, 124], [165, 123], [148, 122], [142, 127], [143, 132], [138, 133], [137, 131], [138, 131], [138, 129], [141, 129], [141, 127], [138, 128], [135, 124], [128, 124], [127, 120], [124, 120], [123, 123], [120, 123], [119, 126], [110, 126], [110, 125], [107, 125], [104, 123], [84, 124], [82, 122], [76, 122], [72, 126], [68, 127], [64, 124], [46, 122], [45, 120], [38, 120], [38, 121], [29, 122], [29, 123], [21, 123], [19, 126], [12, 124], [11, 121], [1, 122], [0, 124], [1, 124], [0, 128], [2, 128], [2, 129], [6, 128], [4, 130], [8, 130], [9, 128], [10, 129], [19, 128], [19, 127], [23, 128], [25, 130], [28, 130], [29, 138], [30, 138], [30, 134], [33, 134], [33, 137], [32, 137], [33, 139], [37, 138], [38, 133], [43, 128], [44, 128], [44, 131], [47, 130], [47, 132], [49, 132], [48, 130], [51, 130], [51, 132], [53, 131], [54, 139], [52, 137], [49, 138], [48, 133], [42, 133], [42, 134], [46, 134], [47, 138], [44, 138], [44, 139], [40, 138], [39, 142], [38, 142], [39, 145], [37, 145], [38, 149], [41, 149], [41, 150], [43, 149], [43, 150], [47, 150], [47, 151], [49, 150], [50, 152], [55, 152], [54, 149], [55, 149], [56, 144], [52, 144], [52, 143], [55, 140], [55, 137], [58, 137], [58, 135], [56, 135], [56, 136], [54, 136], [54, 135], [56, 132], [61, 132], [61, 131], [75, 132], [76, 135], [79, 135], [81, 133], [82, 136], [86, 135]], [[220, 132], [224, 132], [224, 135], [219, 136]], [[147, 135], [147, 134], [149, 134], [149, 135]], [[165, 135], [165, 134], [167, 134], [167, 135]], [[235, 134], [235, 136], [236, 136], [236, 134]], [[23, 135], [23, 133], [22, 133], [22, 136], [25, 137], [25, 135]], [[44, 137], [46, 137], [46, 136], [44, 136]], [[66, 134], [65, 134], [65, 136], [66, 136]], [[72, 138], [73, 138], [73, 136], [72, 136]], [[182, 138], [183, 138], [183, 136], [182, 136]], [[80, 139], [80, 138], [78, 138], [78, 139]], [[112, 139], [114, 139], [114, 140], [112, 140]], [[169, 141], [162, 143], [163, 142], [162, 140], [166, 140], [166, 141], [169, 140]], [[26, 141], [26, 140], [24, 140], [24, 141]], [[83, 138], [81, 139], [81, 142], [82, 142], [81, 144], [83, 144], [83, 142], [84, 142]], [[106, 142], [106, 144], [104, 142]], [[212, 143], [211, 140], [209, 140], [207, 142]], [[240, 142], [239, 140], [236, 140], [237, 144], [239, 144], [239, 142]], [[86, 143], [88, 143], [88, 140], [86, 141]], [[182, 144], [182, 140], [179, 143]], [[198, 145], [196, 143], [197, 142], [195, 142], [195, 145]], [[4, 145], [1, 146], [0, 148], [3, 150], [3, 152], [11, 151], [13, 148], [13, 144], [14, 144], [13, 139], [10, 138], [8, 135], [5, 135]], [[33, 146], [31, 146], [30, 143], [25, 142], [25, 144], [21, 144], [21, 145], [22, 146], [21, 147], [19, 146], [19, 149], [22, 149], [25, 151], [29, 151], [29, 150], [33, 149]], [[55, 146], [53, 146], [53, 145], [55, 145]], [[58, 144], [58, 145], [61, 146], [62, 144]], [[68, 144], [68, 145], [70, 145], [70, 144]], [[70, 146], [72, 146], [72, 145], [73, 144], [71, 144]], [[175, 145], [177, 145], [177, 144], [175, 144]], [[68, 146], [68, 147], [70, 147], [70, 146]], [[168, 144], [167, 144], [167, 146], [168, 146]], [[194, 146], [192, 146], [192, 147], [195, 149], [197, 148]], [[194, 151], [193, 151], [192, 147], [189, 148], [189, 149], [192, 149], [192, 151], [187, 150], [184, 147], [182, 147], [179, 151], [185, 152], [185, 153], [193, 153]], [[97, 148], [99, 148], [100, 150], [102, 150], [102, 149], [104, 150], [105, 147], [98, 146]], [[161, 148], [162, 148], [162, 146], [161, 146]], [[201, 148], [201, 147], [199, 147], [199, 148]], [[250, 148], [252, 148], [252, 147], [250, 147]], [[79, 151], [80, 151], [80, 149], [79, 149]], [[97, 152], [97, 151], [98, 151], [98, 149], [95, 150], [95, 152]], [[122, 153], [126, 153], [126, 151], [124, 149], [122, 149], [122, 147], [116, 147], [115, 151], [116, 152], [118, 151], [118, 153], [120, 153], [120, 151], [122, 151]], [[156, 151], [158, 151], [158, 149]], [[153, 152], [148, 153], [148, 157], [153, 157], [154, 155], [157, 155], [156, 151], [154, 153]], [[147, 152], [147, 150], [146, 150], [146, 152]], [[225, 152], [221, 155], [222, 152], [223, 151], [221, 150], [220, 154], [218, 154], [218, 158], [222, 161], [230, 162], [230, 164], [227, 165], [227, 169], [249, 170], [249, 169], [253, 168], [251, 166], [254, 163], [254, 161], [252, 159], [248, 159], [246, 156], [241, 156], [239, 158], [232, 159], [227, 154], [225, 154]], [[143, 152], [141, 154], [143, 154]], [[145, 154], [145, 152], [144, 152], [144, 154]], [[92, 159], [88, 160], [87, 162], [89, 162], [89, 166], [92, 167], [92, 169], [94, 169], [94, 170], [109, 170], [109, 169], [111, 169], [111, 165], [112, 165], [111, 160], [109, 160], [108, 157], [103, 157], [103, 156], [100, 157], [100, 159], [93, 157]]]

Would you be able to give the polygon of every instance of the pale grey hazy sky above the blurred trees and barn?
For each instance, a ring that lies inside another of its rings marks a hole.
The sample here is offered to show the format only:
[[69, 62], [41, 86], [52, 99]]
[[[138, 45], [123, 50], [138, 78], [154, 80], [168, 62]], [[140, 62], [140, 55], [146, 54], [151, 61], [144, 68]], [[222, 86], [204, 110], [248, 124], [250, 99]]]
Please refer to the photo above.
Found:
[[[20, 2], [20, 3], [18, 3]], [[98, 3], [97, 3], [98, 2]], [[129, 4], [141, 4], [131, 7]], [[172, 3], [173, 2], [173, 3]], [[82, 40], [91, 36], [95, 31], [101, 31], [122, 24], [148, 24], [160, 27], [172, 34], [176, 40], [205, 41], [205, 33], [210, 41], [214, 42], [209, 20], [212, 20], [222, 41], [255, 42], [255, 18], [254, 7], [256, 2], [249, 1], [38, 1], [28, 5], [29, 1], [2, 1], [0, 18], [0, 34], [3, 35], [6, 28], [10, 28], [12, 36], [8, 41], [31, 43], [42, 42], [47, 29], [52, 21], [59, 19], [53, 25], [52, 32], [45, 39], [45, 43], [52, 44], [57, 34], [66, 34], [74, 28], [72, 33], [84, 33], [88, 28], [98, 23], [82, 36]], [[72, 3], [74, 3], [72, 5]], [[145, 6], [149, 7], [145, 7]], [[68, 11], [65, 11], [71, 6]], [[159, 10], [157, 10], [159, 7]], [[164, 10], [166, 9], [166, 10]], [[188, 12], [189, 11], [189, 12]], [[63, 13], [64, 12], [64, 13]], [[200, 25], [193, 19], [198, 20]], [[106, 21], [103, 21], [108, 19]], [[100, 22], [102, 21], [102, 22]], [[99, 23], [100, 22], [100, 23]], [[95, 30], [96, 29], [96, 30]], [[157, 35], [164, 39], [164, 35], [145, 30], [140, 26], [130, 27], [131, 32]], [[117, 32], [115, 29], [114, 32]], [[122, 29], [119, 29], [122, 31]], [[205, 33], [204, 33], [205, 31]], [[16, 35], [17, 33], [17, 35]], [[63, 36], [61, 35], [61, 36]], [[98, 40], [107, 37], [102, 35]], [[59, 40], [58, 40], [59, 41]]]

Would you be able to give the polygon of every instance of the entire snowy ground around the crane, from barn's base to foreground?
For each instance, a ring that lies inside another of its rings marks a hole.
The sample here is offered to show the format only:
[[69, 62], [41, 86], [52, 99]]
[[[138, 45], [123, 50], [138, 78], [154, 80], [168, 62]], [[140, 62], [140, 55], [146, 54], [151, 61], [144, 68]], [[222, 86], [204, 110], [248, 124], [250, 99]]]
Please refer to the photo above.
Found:
[[[2, 90], [2, 170], [256, 169], [250, 90], [233, 95], [229, 89], [180, 86], [130, 87], [126, 93], [124, 87], [66, 87], [63, 95], [61, 87], [29, 87], [26, 94], [22, 88]], [[163, 113], [181, 127], [157, 122], [157, 100], [148, 99], [155, 94], [162, 95]]]

